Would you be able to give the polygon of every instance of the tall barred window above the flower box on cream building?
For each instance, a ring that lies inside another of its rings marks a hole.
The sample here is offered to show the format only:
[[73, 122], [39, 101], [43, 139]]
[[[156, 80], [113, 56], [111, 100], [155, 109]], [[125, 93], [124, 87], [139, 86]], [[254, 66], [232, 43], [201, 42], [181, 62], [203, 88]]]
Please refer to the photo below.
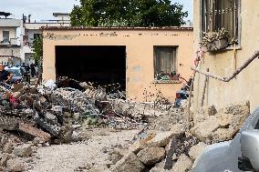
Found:
[[[202, 32], [217, 32], [225, 28], [230, 40], [239, 43], [240, 0], [201, 0]], [[203, 36], [203, 35], [202, 35]]]

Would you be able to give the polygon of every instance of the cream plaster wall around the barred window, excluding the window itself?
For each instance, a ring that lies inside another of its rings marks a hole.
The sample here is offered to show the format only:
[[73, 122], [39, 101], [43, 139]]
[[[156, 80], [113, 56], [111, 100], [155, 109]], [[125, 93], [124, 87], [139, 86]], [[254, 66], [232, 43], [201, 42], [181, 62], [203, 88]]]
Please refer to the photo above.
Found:
[[[200, 42], [200, 0], [194, 3], [194, 51], [199, 48]], [[259, 1], [241, 0], [241, 48], [237, 50], [237, 67], [259, 50]], [[233, 49], [217, 54], [205, 53], [204, 62], [201, 63], [202, 70], [210, 68], [210, 73], [219, 76], [231, 76], [234, 71]], [[259, 61], [255, 59], [247, 66], [241, 74], [229, 83], [210, 78], [209, 86], [205, 94], [205, 105], [216, 105], [218, 107], [244, 100], [250, 100], [251, 110], [259, 106]], [[202, 87], [204, 76], [197, 75], [194, 81], [193, 107], [201, 105]]]

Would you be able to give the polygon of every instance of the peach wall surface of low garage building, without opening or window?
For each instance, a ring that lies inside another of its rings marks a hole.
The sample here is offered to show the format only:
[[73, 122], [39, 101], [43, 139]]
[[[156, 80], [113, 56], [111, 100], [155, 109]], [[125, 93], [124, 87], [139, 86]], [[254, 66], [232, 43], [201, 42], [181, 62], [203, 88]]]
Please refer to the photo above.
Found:
[[[104, 36], [108, 34], [107, 36]], [[78, 29], [44, 30], [43, 79], [55, 79], [55, 46], [126, 46], [127, 97], [136, 101], [152, 101], [146, 97], [161, 90], [171, 101], [182, 84], [153, 84], [153, 46], [179, 46], [178, 73], [192, 76], [192, 29]], [[68, 66], [68, 64], [67, 64]], [[147, 92], [145, 92], [145, 88]], [[143, 95], [144, 93], [144, 95]]]

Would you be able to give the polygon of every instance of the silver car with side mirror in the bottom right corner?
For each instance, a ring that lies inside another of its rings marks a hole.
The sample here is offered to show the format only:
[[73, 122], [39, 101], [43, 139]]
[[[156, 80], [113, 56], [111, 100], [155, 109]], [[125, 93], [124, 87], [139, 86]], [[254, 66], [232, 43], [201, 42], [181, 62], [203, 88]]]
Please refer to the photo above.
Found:
[[213, 144], [194, 162], [192, 172], [259, 171], [259, 107], [231, 141]]

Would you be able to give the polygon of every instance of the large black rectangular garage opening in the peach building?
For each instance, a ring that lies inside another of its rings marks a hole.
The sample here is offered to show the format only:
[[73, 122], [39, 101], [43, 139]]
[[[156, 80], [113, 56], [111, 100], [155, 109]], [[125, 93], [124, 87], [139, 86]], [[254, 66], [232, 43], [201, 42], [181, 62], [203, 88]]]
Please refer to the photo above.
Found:
[[56, 46], [56, 72], [57, 76], [124, 91], [126, 46]]

